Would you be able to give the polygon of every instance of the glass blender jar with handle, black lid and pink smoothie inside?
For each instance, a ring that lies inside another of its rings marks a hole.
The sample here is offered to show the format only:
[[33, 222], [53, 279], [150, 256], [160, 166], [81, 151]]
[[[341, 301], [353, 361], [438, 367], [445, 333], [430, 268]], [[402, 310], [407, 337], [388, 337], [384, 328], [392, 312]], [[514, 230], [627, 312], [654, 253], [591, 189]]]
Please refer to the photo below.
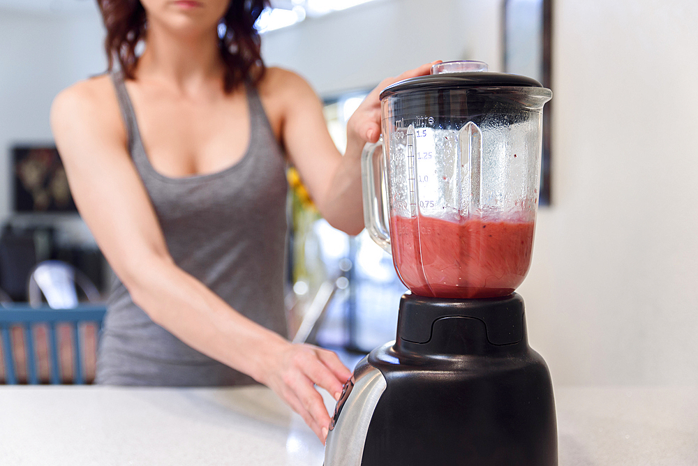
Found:
[[506, 296], [526, 277], [551, 95], [472, 61], [380, 93], [381, 140], [362, 155], [364, 220], [413, 293]]

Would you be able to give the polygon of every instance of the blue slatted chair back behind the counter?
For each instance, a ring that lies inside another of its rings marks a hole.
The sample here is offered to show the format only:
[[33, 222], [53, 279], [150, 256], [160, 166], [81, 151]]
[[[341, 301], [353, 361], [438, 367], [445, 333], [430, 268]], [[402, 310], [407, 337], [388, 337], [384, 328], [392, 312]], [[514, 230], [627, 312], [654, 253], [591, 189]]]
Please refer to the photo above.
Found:
[[80, 304], [71, 309], [54, 309], [48, 306], [33, 308], [27, 303], [5, 303], [0, 305], [0, 336], [2, 337], [2, 350], [5, 360], [6, 384], [17, 384], [13, 345], [10, 338], [10, 329], [14, 326], [20, 326], [24, 331], [24, 343], [27, 352], [27, 382], [29, 384], [39, 383], [34, 350], [36, 345], [34, 343], [34, 333], [32, 332], [32, 328], [36, 324], [47, 324], [48, 326], [50, 382], [52, 384], [61, 383], [56, 326], [62, 323], [70, 326], [70, 335], [73, 341], [73, 383], [84, 384], [85, 374], [81, 358], [82, 342], [78, 332], [78, 325], [84, 322], [94, 322], [98, 338], [106, 311], [106, 306], [91, 304]]

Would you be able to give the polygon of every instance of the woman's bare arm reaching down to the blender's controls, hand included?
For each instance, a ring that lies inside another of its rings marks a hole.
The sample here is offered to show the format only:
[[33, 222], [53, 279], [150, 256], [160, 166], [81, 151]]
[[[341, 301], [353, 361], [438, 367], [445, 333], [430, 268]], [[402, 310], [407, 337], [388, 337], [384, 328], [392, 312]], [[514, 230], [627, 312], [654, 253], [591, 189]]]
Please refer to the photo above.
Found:
[[339, 396], [350, 372], [334, 353], [292, 345], [248, 320], [174, 264], [126, 150], [114, 91], [98, 80], [108, 77], [60, 93], [51, 125], [75, 204], [114, 272], [154, 322], [269, 386], [324, 440], [329, 415], [313, 384]]

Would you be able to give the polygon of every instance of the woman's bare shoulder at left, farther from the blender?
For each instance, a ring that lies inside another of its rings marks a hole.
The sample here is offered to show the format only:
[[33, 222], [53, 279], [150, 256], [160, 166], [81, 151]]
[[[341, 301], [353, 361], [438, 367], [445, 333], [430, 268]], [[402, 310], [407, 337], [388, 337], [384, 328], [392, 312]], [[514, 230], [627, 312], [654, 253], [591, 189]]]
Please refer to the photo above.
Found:
[[119, 136], [124, 133], [120, 115], [114, 84], [107, 73], [76, 82], [59, 92], [51, 105], [54, 132], [77, 124]]

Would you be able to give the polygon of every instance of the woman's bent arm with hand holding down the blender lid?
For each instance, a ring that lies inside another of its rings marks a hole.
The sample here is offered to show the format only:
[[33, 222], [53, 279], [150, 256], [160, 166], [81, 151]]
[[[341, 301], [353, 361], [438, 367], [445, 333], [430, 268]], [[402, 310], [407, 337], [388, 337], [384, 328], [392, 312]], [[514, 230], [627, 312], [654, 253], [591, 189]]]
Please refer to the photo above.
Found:
[[433, 63], [389, 77], [366, 96], [347, 123], [344, 156], [327, 132], [318, 96], [301, 77], [285, 72], [283, 84], [279, 83], [285, 89], [283, 144], [318, 211], [333, 227], [348, 234], [364, 228], [360, 159], [364, 144], [380, 137], [380, 91], [408, 77], [429, 74]]

